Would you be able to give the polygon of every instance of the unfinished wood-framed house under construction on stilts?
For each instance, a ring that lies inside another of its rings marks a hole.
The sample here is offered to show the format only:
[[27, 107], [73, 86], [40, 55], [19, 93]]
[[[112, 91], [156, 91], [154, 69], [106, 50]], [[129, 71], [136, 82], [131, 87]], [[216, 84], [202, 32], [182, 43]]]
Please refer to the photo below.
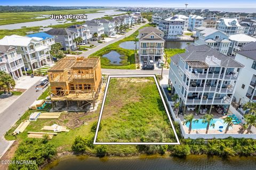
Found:
[[52, 106], [56, 101], [77, 101], [78, 107], [90, 103], [95, 106], [101, 88], [99, 57], [65, 57], [49, 71]]

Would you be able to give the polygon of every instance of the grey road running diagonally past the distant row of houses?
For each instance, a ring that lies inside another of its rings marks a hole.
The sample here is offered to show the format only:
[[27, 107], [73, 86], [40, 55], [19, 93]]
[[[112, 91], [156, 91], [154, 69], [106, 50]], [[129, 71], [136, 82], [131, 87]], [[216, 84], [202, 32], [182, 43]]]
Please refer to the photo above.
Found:
[[121, 37], [118, 37], [118, 38], [115, 38], [111, 41], [108, 41], [107, 43], [103, 43], [103, 44], [100, 44], [90, 50], [88, 50], [87, 52], [83, 52], [82, 54], [80, 54], [79, 56], [84, 56], [84, 57], [87, 57], [87, 56], [90, 56], [91, 54], [97, 52], [98, 50], [100, 50], [101, 48], [103, 47], [106, 47], [110, 44], [113, 44], [121, 39], [124, 39], [125, 37], [128, 37], [130, 35], [132, 35], [135, 31], [137, 31], [140, 27], [142, 27], [143, 25], [146, 25], [148, 23], [148, 21], [145, 19], [146, 23], [143, 23], [143, 24], [140, 24], [138, 25], [137, 27], [135, 27], [134, 29], [132, 29], [130, 32], [127, 32], [125, 33], [125, 35], [121, 36]]

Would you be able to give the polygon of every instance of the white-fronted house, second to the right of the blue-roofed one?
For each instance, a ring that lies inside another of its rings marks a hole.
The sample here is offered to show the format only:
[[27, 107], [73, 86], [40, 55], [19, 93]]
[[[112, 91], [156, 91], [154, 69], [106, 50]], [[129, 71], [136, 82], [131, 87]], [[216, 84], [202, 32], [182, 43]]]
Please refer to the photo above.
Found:
[[71, 25], [68, 27], [68, 29], [76, 33], [76, 38], [82, 37], [82, 44], [88, 44], [90, 41], [92, 41], [92, 34], [90, 33], [87, 25]]

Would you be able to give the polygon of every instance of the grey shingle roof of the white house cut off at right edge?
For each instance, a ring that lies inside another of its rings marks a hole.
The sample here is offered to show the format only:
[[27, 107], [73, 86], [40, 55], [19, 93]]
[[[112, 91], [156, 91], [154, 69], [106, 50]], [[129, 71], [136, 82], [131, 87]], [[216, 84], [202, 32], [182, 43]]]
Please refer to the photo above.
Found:
[[236, 53], [249, 57], [252, 60], [256, 60], [256, 42], [244, 45], [241, 50]]

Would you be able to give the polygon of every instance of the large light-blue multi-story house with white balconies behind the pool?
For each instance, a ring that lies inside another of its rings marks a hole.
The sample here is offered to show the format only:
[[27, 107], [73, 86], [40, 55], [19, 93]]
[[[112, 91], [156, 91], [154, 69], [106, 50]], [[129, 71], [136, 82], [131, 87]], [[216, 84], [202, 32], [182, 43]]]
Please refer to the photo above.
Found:
[[227, 112], [242, 68], [241, 63], [209, 46], [190, 45], [186, 53], [172, 57], [169, 82], [172, 93], [179, 95], [180, 106], [199, 111], [207, 108], [211, 113], [212, 106], [220, 105]]

